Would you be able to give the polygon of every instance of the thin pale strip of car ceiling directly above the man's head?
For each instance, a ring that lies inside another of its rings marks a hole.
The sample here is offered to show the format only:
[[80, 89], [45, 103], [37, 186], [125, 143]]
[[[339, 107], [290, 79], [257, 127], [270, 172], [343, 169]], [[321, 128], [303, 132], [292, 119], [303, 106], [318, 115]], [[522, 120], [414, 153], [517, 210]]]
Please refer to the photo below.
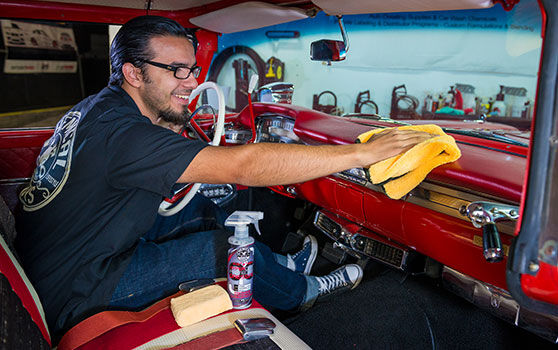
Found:
[[[146, 10], [147, 0], [41, 0], [50, 2], [65, 2], [70, 4], [98, 5], [123, 7], [130, 9]], [[220, 0], [152, 0], [152, 10], [177, 11], [198, 7]]]

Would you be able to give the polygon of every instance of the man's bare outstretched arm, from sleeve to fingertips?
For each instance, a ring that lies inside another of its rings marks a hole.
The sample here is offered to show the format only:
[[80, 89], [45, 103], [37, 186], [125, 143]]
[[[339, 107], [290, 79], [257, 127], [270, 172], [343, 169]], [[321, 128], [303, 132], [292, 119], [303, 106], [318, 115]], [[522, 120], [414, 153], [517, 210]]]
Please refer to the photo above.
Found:
[[389, 130], [364, 144], [304, 146], [258, 143], [236, 147], [206, 147], [178, 182], [282, 185], [312, 180], [355, 167], [367, 167], [407, 151], [432, 135]]

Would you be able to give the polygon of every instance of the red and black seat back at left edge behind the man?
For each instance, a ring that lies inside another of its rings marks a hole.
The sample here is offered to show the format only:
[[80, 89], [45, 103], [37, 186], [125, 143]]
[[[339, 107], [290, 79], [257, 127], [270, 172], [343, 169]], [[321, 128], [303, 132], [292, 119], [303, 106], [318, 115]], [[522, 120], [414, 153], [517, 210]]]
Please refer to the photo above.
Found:
[[39, 297], [13, 250], [15, 220], [0, 196], [0, 344], [5, 349], [50, 349]]

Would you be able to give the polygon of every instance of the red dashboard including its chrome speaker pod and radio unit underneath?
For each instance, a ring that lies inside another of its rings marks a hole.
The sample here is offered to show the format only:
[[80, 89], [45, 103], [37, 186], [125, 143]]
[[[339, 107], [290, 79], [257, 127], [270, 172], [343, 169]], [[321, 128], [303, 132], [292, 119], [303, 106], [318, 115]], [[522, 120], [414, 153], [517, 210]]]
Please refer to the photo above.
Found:
[[[349, 143], [374, 127], [290, 105], [274, 106], [282, 108], [281, 113], [274, 113], [265, 108], [268, 106], [260, 104], [261, 108], [257, 108], [261, 113], [256, 118], [256, 142]], [[242, 115], [239, 120], [243, 120]], [[385, 121], [379, 126], [385, 127]], [[388, 198], [381, 185], [366, 178], [362, 168], [276, 186], [274, 190], [317, 205], [320, 209], [315, 214], [315, 226], [349, 254], [413, 271], [417, 267], [410, 261], [426, 256], [506, 288], [505, 263], [516, 221], [506, 218], [495, 223], [503, 258], [499, 263], [490, 263], [483, 257], [483, 229], [473, 225], [467, 207], [471, 203], [491, 203], [495, 210], [518, 211], [521, 176], [506, 186], [509, 174], [498, 174], [493, 167], [510, 168], [513, 164], [512, 173], [515, 171], [513, 176], [517, 176], [524, 170], [525, 158], [519, 153], [505, 153], [505, 149], [503, 153], [462, 142], [459, 146], [463, 160], [435, 169], [401, 200]], [[501, 178], [495, 179], [497, 176]], [[463, 177], [468, 180], [460, 181]], [[493, 190], [495, 186], [500, 187], [499, 191]], [[417, 265], [420, 269], [421, 264]]]

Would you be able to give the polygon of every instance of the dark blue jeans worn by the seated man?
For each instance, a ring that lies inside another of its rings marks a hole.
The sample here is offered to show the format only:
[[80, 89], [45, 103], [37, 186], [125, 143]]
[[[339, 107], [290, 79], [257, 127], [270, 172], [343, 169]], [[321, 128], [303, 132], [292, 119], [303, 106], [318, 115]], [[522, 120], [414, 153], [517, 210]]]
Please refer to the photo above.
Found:
[[[157, 216], [139, 239], [110, 308], [141, 309], [176, 293], [182, 282], [226, 277], [232, 231], [224, 229], [225, 219], [224, 210], [201, 195], [176, 215]], [[281, 310], [298, 308], [306, 294], [305, 277], [278, 264], [266, 245], [256, 241], [254, 250], [254, 298]]]

